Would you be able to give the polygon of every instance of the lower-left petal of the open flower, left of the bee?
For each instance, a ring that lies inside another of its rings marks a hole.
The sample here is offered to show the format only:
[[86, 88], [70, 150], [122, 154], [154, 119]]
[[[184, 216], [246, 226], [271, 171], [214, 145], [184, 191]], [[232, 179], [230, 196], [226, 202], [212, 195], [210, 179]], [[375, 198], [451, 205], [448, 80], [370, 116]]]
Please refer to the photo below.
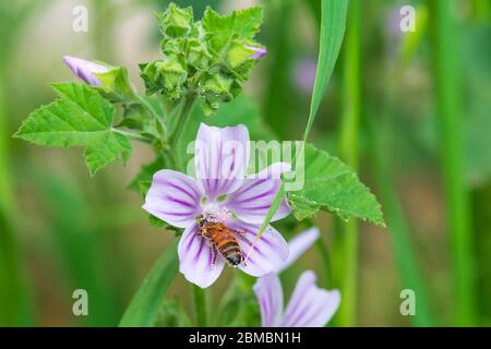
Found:
[[206, 288], [220, 276], [225, 261], [197, 236], [194, 224], [182, 233], [178, 245], [179, 272], [192, 284]]

